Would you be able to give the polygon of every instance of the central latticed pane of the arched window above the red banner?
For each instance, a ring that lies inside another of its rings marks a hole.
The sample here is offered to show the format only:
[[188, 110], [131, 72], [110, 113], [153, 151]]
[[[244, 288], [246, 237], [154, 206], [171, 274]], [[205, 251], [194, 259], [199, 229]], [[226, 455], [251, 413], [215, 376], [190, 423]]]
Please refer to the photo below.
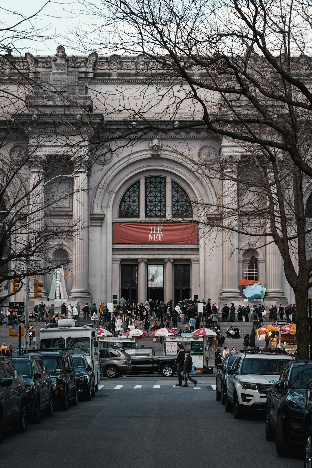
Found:
[[145, 217], [166, 217], [166, 178], [145, 178]]

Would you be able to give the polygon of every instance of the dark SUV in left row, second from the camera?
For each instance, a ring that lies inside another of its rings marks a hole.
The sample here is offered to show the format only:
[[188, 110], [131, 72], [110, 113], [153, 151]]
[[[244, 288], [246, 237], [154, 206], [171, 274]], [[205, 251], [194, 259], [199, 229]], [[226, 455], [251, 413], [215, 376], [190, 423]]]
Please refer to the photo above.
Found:
[[40, 423], [41, 411], [53, 415], [52, 380], [38, 356], [16, 356], [9, 358], [18, 373], [22, 375], [27, 395], [27, 412], [32, 422]]

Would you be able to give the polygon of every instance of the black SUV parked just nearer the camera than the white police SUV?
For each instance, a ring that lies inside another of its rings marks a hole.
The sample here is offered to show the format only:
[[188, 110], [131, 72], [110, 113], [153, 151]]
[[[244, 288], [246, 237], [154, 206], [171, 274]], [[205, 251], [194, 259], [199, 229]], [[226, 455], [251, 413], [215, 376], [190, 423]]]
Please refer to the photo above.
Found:
[[280, 457], [287, 456], [290, 443], [304, 442], [305, 389], [311, 378], [311, 361], [292, 361], [268, 389], [265, 436], [275, 439]]

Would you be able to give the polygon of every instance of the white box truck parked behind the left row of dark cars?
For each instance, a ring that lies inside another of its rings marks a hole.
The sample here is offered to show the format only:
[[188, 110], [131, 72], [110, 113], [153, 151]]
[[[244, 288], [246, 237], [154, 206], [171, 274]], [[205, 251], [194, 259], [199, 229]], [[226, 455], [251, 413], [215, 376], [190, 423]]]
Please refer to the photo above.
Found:
[[82, 354], [94, 371], [94, 389], [99, 389], [99, 340], [92, 325], [76, 326], [72, 319], [59, 320], [40, 329], [40, 349], [67, 348], [73, 355]]

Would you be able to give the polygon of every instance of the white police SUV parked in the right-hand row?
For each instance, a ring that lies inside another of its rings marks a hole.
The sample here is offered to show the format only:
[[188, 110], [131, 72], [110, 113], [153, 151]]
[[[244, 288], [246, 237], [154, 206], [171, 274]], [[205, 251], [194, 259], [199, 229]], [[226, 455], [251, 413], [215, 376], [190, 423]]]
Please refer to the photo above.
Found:
[[268, 388], [279, 380], [290, 360], [293, 358], [284, 354], [258, 350], [239, 353], [227, 371], [225, 411], [233, 411], [239, 419], [243, 413], [265, 410]]

